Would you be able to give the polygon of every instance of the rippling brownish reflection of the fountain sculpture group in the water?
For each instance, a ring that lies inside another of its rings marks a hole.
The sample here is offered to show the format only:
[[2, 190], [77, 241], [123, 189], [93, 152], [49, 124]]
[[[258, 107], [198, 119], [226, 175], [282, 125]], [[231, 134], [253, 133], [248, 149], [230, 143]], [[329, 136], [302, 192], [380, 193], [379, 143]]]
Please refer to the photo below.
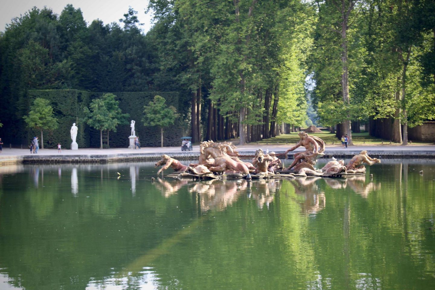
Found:
[[207, 211], [224, 210], [244, 195], [248, 199], [256, 200], [260, 209], [269, 207], [274, 201], [275, 193], [279, 192], [283, 183], [289, 183], [294, 187], [294, 193], [298, 196], [294, 201], [299, 204], [302, 213], [306, 214], [318, 213], [326, 207], [326, 187], [334, 190], [345, 190], [350, 187], [353, 192], [365, 198], [370, 192], [381, 188], [380, 183], [374, 183], [371, 180], [366, 182], [365, 176], [346, 178], [299, 177], [294, 180], [260, 179], [254, 181], [203, 180], [197, 182], [191, 182], [186, 178], [171, 181], [157, 178], [153, 184], [166, 198], [180, 193], [183, 188], [185, 188], [184, 192], [196, 193], [198, 207], [201, 211]]

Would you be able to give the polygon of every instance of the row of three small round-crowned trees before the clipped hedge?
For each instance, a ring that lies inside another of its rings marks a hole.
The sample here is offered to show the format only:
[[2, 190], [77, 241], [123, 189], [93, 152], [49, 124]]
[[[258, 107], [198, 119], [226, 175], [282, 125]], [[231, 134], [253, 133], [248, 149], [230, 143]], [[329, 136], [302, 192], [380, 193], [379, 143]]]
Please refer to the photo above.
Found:
[[[107, 145], [109, 145], [109, 131], [116, 132], [119, 124], [128, 123], [128, 113], [122, 113], [119, 101], [113, 93], [105, 93], [100, 98], [91, 101], [89, 108], [84, 108], [85, 123], [100, 130], [100, 148], [103, 148], [103, 130], [107, 130]], [[144, 126], [158, 126], [161, 132], [161, 147], [163, 147], [163, 128], [174, 124], [179, 116], [173, 106], [167, 107], [166, 100], [155, 96], [152, 102], [144, 105]], [[36, 98], [30, 107], [30, 112], [23, 117], [30, 129], [41, 131], [41, 148], [44, 148], [43, 131], [54, 130], [58, 127], [53, 107], [49, 100]]]

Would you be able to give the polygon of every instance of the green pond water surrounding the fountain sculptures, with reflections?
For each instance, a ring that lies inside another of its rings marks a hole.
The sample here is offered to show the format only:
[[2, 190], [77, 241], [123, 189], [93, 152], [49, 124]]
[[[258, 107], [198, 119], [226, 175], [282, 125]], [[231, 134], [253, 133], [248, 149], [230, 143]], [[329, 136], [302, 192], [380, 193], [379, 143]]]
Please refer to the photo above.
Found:
[[0, 167], [0, 290], [435, 289], [435, 161], [241, 185], [156, 171]]

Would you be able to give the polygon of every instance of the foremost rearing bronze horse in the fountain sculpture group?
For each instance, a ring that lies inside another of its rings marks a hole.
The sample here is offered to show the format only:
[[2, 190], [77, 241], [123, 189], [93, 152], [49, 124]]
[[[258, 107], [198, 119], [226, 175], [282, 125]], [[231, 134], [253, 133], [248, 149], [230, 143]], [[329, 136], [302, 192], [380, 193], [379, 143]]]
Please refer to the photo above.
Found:
[[214, 166], [210, 167], [211, 172], [224, 172], [225, 170], [234, 170], [242, 174], [248, 174], [248, 167], [242, 163], [233, 160], [227, 154], [227, 148], [221, 143], [213, 141], [201, 142], [201, 154], [210, 155], [214, 159]]

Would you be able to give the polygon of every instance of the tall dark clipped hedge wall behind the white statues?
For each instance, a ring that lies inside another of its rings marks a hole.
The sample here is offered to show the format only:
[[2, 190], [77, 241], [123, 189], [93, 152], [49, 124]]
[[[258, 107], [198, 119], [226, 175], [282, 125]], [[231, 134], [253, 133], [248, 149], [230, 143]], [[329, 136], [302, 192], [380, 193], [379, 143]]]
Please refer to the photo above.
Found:
[[[100, 97], [103, 93], [94, 93], [81, 90], [29, 90], [27, 98], [27, 110], [36, 98], [43, 98], [51, 101], [55, 117], [59, 127], [53, 131], [44, 131], [44, 148], [56, 148], [61, 143], [63, 148], [70, 149], [71, 137], [70, 128], [73, 123], [79, 129], [77, 143], [79, 148], [100, 147], [100, 132], [87, 126], [84, 123], [84, 107], [88, 107], [91, 100]], [[172, 105], [179, 110], [178, 92], [117, 92], [114, 93], [120, 102], [123, 113], [129, 113], [129, 120], [136, 121], [136, 135], [141, 140], [141, 146], [160, 146], [160, 130], [156, 127], [144, 127], [142, 124], [143, 107], [154, 99], [155, 95], [165, 98], [168, 106]], [[13, 108], [10, 108], [13, 110]], [[27, 114], [26, 113], [26, 114]], [[22, 118], [22, 116], [19, 116]], [[33, 136], [39, 136], [40, 132], [29, 130], [24, 122], [19, 126], [19, 136], [9, 136], [6, 127], [0, 128], [0, 136], [7, 143], [14, 146], [30, 143]], [[177, 120], [174, 126], [164, 129], [164, 146], [179, 146], [180, 137], [183, 135], [181, 120]], [[128, 136], [130, 135], [130, 121], [119, 125], [116, 132], [110, 132], [110, 147], [128, 147]], [[17, 130], [15, 130], [17, 131]]]

